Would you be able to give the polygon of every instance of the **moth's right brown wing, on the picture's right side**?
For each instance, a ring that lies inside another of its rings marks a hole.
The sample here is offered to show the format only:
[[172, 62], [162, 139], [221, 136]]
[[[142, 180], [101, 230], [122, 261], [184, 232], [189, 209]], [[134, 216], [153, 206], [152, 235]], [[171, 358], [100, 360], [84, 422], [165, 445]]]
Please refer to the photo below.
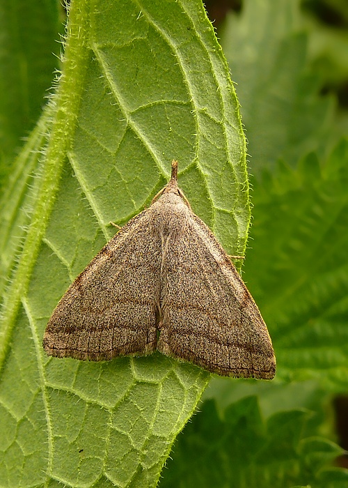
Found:
[[272, 379], [276, 360], [257, 305], [216, 238], [189, 211], [168, 239], [157, 349], [224, 376]]

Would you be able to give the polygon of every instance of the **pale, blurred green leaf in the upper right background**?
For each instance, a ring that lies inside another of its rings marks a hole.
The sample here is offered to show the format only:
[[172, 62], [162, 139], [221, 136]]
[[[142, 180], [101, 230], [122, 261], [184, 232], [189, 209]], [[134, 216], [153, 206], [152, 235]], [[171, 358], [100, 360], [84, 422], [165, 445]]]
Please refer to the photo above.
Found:
[[319, 97], [309, 69], [300, 1], [244, 1], [240, 15], [228, 15], [221, 44], [238, 83], [253, 174], [278, 158], [294, 167], [309, 151], [326, 155], [338, 141], [334, 100]]

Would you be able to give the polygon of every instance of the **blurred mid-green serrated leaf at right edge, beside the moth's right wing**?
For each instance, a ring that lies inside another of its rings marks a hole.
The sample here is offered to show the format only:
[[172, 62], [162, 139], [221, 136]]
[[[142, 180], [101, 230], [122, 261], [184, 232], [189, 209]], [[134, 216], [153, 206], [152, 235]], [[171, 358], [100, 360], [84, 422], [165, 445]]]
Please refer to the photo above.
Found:
[[[279, 379], [347, 390], [348, 142], [254, 181], [246, 282], [269, 327]], [[255, 270], [258, 270], [255, 273]]]

